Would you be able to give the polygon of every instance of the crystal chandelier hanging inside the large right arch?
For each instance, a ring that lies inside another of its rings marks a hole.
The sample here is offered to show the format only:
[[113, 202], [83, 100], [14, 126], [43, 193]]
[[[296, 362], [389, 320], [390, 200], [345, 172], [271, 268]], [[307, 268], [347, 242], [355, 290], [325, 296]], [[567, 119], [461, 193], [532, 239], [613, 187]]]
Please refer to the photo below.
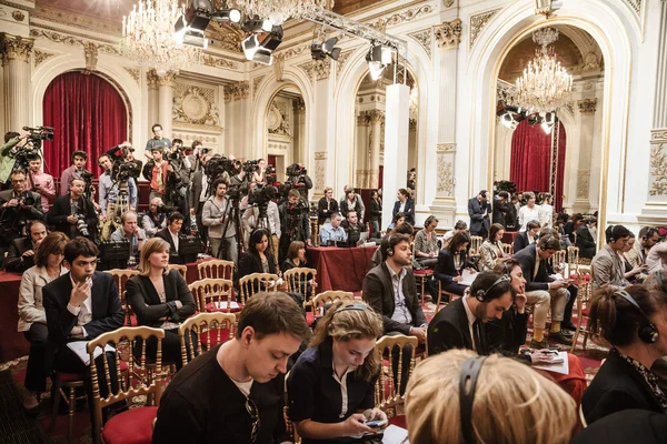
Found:
[[550, 47], [556, 40], [557, 29], [541, 28], [532, 32], [532, 41], [540, 48], [517, 79], [515, 91], [506, 98], [509, 104], [527, 110], [528, 114], [544, 114], [557, 111], [570, 101], [573, 77], [556, 60], [554, 47]]

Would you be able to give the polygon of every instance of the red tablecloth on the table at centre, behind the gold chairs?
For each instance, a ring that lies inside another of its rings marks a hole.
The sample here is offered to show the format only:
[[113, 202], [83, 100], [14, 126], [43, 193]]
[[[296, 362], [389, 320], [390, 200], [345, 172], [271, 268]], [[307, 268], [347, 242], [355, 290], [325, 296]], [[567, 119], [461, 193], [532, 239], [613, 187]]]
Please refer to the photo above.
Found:
[[371, 268], [372, 246], [339, 249], [316, 246], [308, 249], [310, 263], [317, 269], [317, 291], [340, 290], [358, 292], [364, 287], [364, 278]]

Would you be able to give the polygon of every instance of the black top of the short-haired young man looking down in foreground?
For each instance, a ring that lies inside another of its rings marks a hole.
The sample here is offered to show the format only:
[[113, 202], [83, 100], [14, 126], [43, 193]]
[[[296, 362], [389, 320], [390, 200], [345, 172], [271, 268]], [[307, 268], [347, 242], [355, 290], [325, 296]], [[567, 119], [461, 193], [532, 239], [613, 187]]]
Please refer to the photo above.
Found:
[[[222, 370], [220, 345], [198, 356], [167, 387], [160, 401], [152, 442], [250, 443], [252, 420], [246, 396]], [[290, 441], [285, 427], [285, 376], [252, 384], [250, 398], [259, 412], [257, 444]]]

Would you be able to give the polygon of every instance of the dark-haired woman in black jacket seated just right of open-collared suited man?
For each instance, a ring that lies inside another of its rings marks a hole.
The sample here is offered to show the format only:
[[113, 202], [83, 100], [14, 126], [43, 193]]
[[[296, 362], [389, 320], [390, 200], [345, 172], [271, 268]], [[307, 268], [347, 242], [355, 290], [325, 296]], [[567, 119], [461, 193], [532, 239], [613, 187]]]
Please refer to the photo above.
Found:
[[465, 232], [456, 233], [451, 238], [449, 246], [440, 250], [438, 254], [434, 278], [440, 281], [442, 290], [448, 293], [462, 296], [468, 287], [459, 283], [464, 280], [462, 273], [468, 259], [468, 245], [470, 245], [470, 236]]

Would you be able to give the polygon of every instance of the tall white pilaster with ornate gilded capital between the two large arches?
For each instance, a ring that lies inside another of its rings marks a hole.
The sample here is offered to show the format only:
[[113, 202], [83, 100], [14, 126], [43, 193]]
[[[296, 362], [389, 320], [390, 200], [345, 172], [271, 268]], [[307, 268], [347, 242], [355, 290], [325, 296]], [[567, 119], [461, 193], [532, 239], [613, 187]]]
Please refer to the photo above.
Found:
[[[438, 42], [439, 59], [439, 124], [436, 145], [436, 164], [427, 165], [428, 171], [419, 171], [418, 181], [434, 175], [435, 199], [430, 206], [442, 226], [454, 225], [456, 219], [455, 167], [456, 167], [456, 110], [458, 47], [461, 39], [461, 20], [445, 21], [434, 29]], [[435, 168], [434, 168], [435, 167]]]

